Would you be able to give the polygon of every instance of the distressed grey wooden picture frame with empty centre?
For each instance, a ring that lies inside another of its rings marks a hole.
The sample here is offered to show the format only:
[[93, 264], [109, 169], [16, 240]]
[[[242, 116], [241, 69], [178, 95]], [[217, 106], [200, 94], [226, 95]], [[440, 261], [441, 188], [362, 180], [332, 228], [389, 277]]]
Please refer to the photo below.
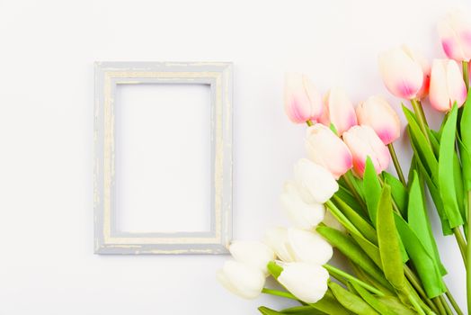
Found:
[[[129, 233], [116, 229], [114, 101], [117, 85], [205, 84], [211, 99], [210, 230]], [[96, 62], [95, 254], [224, 254], [232, 238], [232, 64]]]

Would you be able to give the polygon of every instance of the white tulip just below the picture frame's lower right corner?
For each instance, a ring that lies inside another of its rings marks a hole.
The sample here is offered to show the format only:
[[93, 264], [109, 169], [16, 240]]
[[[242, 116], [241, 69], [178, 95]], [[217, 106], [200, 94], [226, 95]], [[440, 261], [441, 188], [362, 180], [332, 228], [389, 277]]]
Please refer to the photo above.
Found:
[[273, 250], [257, 241], [233, 241], [229, 252], [237, 262], [260, 269], [265, 275], [268, 275], [267, 264], [275, 259]]

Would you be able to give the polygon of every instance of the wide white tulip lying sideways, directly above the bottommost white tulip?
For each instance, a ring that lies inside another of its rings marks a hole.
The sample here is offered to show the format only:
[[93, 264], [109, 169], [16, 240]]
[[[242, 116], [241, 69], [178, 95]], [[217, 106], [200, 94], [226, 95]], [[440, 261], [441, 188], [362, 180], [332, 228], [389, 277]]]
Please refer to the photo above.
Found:
[[324, 265], [333, 256], [332, 246], [315, 231], [269, 229], [265, 234], [265, 242], [284, 262]]

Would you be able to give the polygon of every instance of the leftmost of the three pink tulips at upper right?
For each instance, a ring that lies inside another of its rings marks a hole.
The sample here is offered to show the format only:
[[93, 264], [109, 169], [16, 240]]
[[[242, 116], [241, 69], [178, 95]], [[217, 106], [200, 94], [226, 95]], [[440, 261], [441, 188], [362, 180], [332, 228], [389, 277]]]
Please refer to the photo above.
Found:
[[379, 72], [387, 90], [407, 100], [417, 97], [424, 83], [422, 65], [409, 53], [408, 49], [395, 48], [378, 57]]

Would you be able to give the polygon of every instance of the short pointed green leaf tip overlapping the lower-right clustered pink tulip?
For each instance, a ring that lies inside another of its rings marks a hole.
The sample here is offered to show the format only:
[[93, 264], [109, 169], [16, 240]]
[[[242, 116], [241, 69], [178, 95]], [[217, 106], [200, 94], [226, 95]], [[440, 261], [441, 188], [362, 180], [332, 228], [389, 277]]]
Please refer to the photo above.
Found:
[[367, 158], [365, 173], [363, 175], [363, 189], [365, 192], [368, 192], [365, 194], [365, 201], [367, 202], [369, 219], [376, 225], [381, 184], [379, 183], [375, 166], [369, 157]]

